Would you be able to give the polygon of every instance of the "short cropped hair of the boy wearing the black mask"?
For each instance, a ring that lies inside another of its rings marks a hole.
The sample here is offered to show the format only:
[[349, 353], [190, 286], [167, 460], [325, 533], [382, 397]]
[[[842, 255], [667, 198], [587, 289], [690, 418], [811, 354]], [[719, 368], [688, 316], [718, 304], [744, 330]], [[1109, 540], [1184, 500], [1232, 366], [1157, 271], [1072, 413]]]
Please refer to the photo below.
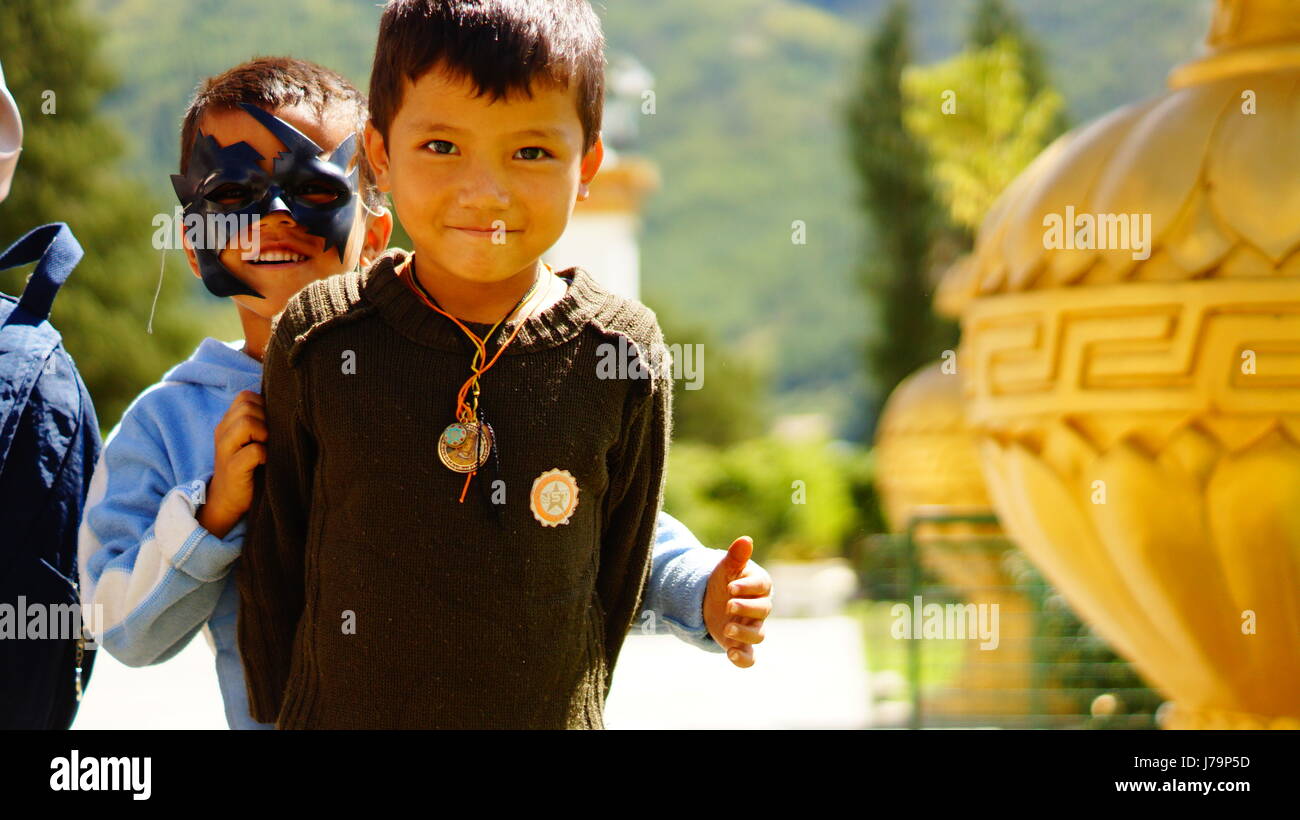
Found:
[[[292, 57], [255, 57], [199, 83], [181, 125], [182, 174], [188, 170], [190, 151], [199, 135], [203, 114], [208, 110], [239, 110], [240, 103], [270, 113], [304, 105], [322, 121], [332, 116], [341, 117], [356, 131], [358, 142], [369, 118], [365, 95], [338, 71]], [[363, 152], [358, 151], [356, 157], [361, 196], [367, 205], [377, 209], [384, 204], [384, 195]]]

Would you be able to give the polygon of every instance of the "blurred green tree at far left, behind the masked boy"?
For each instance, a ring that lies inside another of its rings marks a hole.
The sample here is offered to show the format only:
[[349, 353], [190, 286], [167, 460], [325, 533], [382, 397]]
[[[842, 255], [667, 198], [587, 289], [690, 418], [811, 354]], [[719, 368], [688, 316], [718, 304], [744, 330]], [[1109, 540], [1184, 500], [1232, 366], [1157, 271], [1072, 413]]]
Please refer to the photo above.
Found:
[[[212, 309], [192, 299], [188, 266], [174, 252], [157, 288], [153, 218], [170, 213], [118, 170], [117, 134], [96, 113], [113, 87], [99, 32], [74, 0], [4, 0], [0, 60], [23, 117], [23, 151], [0, 243], [44, 222], [68, 222], [86, 257], [55, 300], [52, 320], [90, 387], [104, 429], [142, 389], [185, 359]], [[26, 272], [0, 274], [0, 291], [22, 291]]]

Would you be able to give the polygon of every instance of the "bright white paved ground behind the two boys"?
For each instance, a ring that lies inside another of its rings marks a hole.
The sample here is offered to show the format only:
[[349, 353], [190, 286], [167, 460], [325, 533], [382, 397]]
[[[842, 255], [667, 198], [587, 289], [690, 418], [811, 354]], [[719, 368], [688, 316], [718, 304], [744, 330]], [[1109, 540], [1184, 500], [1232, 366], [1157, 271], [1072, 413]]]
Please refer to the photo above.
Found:
[[[858, 624], [772, 617], [758, 664], [737, 669], [670, 635], [629, 635], [606, 706], [611, 729], [853, 729], [868, 724]], [[212, 651], [196, 637], [165, 664], [95, 661], [77, 729], [225, 729]]]

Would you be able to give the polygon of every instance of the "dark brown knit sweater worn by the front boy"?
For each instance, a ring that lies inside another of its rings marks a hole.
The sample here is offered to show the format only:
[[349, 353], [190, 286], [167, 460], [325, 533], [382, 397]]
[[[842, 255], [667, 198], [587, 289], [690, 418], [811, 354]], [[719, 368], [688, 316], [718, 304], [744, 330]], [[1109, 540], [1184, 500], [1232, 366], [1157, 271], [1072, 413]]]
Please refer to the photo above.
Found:
[[[499, 457], [459, 503], [464, 476], [437, 442], [473, 348], [395, 275], [403, 259], [312, 283], [266, 348], [266, 464], [238, 569], [252, 716], [281, 729], [602, 728], [671, 434], [654, 313], [562, 272], [564, 298], [482, 377]], [[577, 507], [543, 526], [532, 490], [552, 469], [572, 474]]]

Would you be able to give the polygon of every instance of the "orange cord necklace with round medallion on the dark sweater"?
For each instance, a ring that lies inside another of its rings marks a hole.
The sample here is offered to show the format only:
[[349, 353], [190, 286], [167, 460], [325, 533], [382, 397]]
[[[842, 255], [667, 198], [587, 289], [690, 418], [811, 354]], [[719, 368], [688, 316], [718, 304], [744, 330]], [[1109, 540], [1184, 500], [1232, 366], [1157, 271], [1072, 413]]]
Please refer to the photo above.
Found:
[[[500, 359], [503, 352], [506, 352], [510, 343], [515, 340], [515, 337], [519, 335], [519, 331], [524, 327], [524, 321], [528, 317], [519, 320], [515, 325], [514, 333], [510, 334], [510, 338], [506, 339], [490, 360], [488, 359], [488, 342], [491, 339], [493, 334], [497, 333], [497, 329], [502, 326], [502, 324], [510, 321], [510, 318], [528, 303], [528, 300], [537, 291], [537, 285], [541, 282], [541, 277], [533, 281], [532, 287], [529, 287], [528, 292], [515, 303], [515, 307], [511, 308], [506, 316], [498, 320], [497, 324], [493, 325], [491, 329], [480, 339], [472, 330], [465, 327], [464, 322], [438, 307], [433, 298], [424, 290], [424, 286], [415, 275], [415, 265], [412, 264], [413, 260], [415, 253], [407, 256], [406, 261], [403, 261], [395, 270], [396, 277], [406, 282], [407, 287], [410, 287], [425, 305], [446, 316], [456, 325], [456, 327], [460, 327], [460, 330], [469, 337], [469, 340], [474, 346], [474, 357], [469, 363], [469, 378], [465, 379], [465, 383], [460, 386], [460, 391], [456, 394], [456, 421], [447, 425], [447, 429], [445, 429], [442, 435], [438, 438], [438, 457], [442, 463], [452, 472], [465, 473], [465, 486], [460, 490], [460, 503], [464, 503], [465, 493], [469, 491], [469, 482], [473, 481], [478, 468], [488, 463], [488, 459], [493, 454], [493, 447], [495, 446], [493, 441], [494, 437], [491, 425], [484, 421], [478, 413], [478, 382], [482, 379], [484, 373], [497, 364], [497, 360]], [[547, 273], [554, 273], [550, 265], [546, 265], [546, 270]]]

